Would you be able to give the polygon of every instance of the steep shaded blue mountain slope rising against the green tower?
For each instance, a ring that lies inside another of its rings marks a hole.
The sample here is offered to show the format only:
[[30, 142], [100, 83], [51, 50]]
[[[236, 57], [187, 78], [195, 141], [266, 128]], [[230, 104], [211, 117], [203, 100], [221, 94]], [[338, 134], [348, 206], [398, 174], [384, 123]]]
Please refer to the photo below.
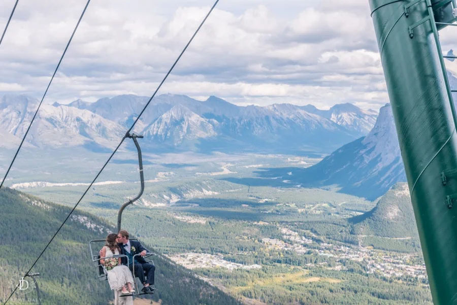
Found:
[[381, 108], [367, 137], [344, 145], [303, 175], [314, 177], [316, 185], [338, 185], [341, 192], [369, 199], [406, 181], [390, 105]]

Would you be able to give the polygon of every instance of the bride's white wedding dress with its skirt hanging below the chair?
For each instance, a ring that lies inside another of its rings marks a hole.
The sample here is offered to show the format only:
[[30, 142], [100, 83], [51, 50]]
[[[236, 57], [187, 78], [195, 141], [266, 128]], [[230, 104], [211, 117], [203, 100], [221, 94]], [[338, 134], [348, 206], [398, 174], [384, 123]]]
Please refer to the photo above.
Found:
[[[113, 253], [110, 248], [106, 247], [106, 254], [105, 258], [113, 257], [114, 255], [119, 255], [119, 250]], [[125, 265], [117, 265], [111, 270], [107, 271], [108, 274], [108, 283], [110, 284], [110, 288], [114, 290], [114, 305], [133, 305], [133, 297], [132, 296], [125, 296], [120, 297], [122, 286], [126, 283], [132, 284], [134, 286], [134, 279], [132, 277], [132, 273], [130, 273], [130, 269], [128, 269]]]

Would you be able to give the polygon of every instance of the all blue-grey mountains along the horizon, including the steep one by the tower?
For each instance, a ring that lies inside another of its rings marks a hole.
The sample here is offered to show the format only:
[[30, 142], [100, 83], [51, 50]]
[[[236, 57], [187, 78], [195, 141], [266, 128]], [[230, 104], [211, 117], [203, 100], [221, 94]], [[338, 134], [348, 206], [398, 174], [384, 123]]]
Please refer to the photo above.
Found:
[[[455, 74], [449, 72], [449, 80], [451, 87], [457, 88]], [[121, 95], [95, 103], [76, 100], [69, 105], [43, 105], [27, 141], [37, 147], [112, 148], [147, 101], [147, 97]], [[14, 148], [19, 143], [37, 105], [36, 99], [24, 95], [0, 99], [0, 135], [6, 139], [0, 147]], [[309, 168], [258, 172], [260, 178], [286, 177], [288, 186], [334, 186], [341, 192], [374, 200], [397, 182], [406, 181], [389, 104], [380, 109], [376, 119], [375, 112], [351, 104], [329, 110], [288, 104], [239, 107], [214, 96], [198, 101], [165, 94], [152, 100], [135, 131], [145, 134], [143, 150], [150, 152], [333, 151]], [[288, 175], [290, 172], [293, 174]], [[273, 183], [271, 179], [232, 180], [249, 185]]]

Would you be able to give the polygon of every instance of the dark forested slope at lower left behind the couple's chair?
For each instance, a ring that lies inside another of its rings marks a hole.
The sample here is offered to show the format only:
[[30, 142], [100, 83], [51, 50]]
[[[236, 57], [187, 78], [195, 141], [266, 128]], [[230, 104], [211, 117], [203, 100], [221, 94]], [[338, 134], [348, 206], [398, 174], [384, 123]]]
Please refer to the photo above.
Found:
[[[23, 193], [0, 191], [0, 302], [11, 292], [46, 246], [70, 209]], [[114, 227], [101, 219], [75, 211], [32, 272], [39, 272], [42, 300], [46, 305], [108, 304], [113, 294], [99, 281], [91, 262], [88, 241], [103, 239]], [[147, 247], [147, 245], [145, 245]], [[186, 269], [157, 256], [156, 288], [152, 300], [162, 305], [239, 304], [234, 298], [196, 278]], [[31, 281], [30, 281], [31, 282]], [[23, 299], [35, 299], [35, 302]], [[17, 292], [12, 304], [36, 304], [35, 291]], [[21, 299], [21, 301], [17, 301]]]

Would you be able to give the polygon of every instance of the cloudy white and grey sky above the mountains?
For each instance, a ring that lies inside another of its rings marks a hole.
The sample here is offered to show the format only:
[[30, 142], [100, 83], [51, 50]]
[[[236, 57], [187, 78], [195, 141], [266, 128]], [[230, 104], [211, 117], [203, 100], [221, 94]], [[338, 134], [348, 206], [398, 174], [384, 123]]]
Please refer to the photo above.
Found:
[[[86, 1], [19, 1], [0, 46], [0, 94], [41, 98]], [[2, 31], [14, 3], [0, 2]], [[92, 0], [46, 103], [150, 96], [212, 4]], [[442, 32], [445, 48], [455, 33]], [[159, 93], [323, 109], [388, 101], [368, 0], [221, 0]]]

